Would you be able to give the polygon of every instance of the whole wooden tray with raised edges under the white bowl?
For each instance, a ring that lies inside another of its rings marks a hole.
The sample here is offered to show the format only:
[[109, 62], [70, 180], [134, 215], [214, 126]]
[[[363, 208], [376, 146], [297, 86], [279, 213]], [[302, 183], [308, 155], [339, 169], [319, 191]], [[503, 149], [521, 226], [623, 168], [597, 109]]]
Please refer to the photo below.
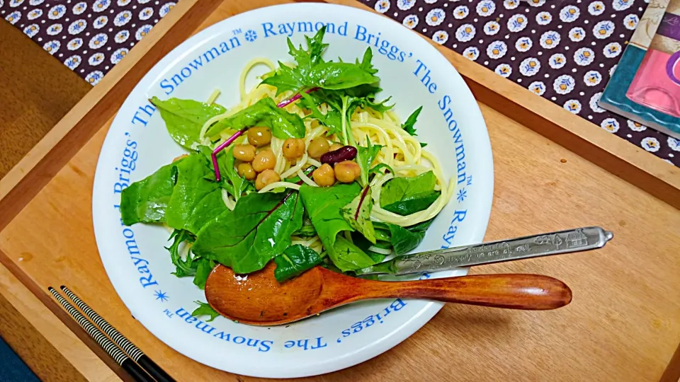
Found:
[[[177, 380], [228, 378], [145, 330], [101, 266], [90, 200], [113, 115], [141, 76], [188, 35], [234, 14], [286, 2], [181, 1], [0, 181], [0, 262], [115, 372], [120, 370], [47, 287], [73, 289]], [[366, 8], [353, 0], [329, 2]], [[590, 224], [612, 230], [615, 238], [595, 253], [472, 269], [560, 278], [574, 291], [566, 308], [523, 312], [448, 305], [395, 349], [312, 379], [658, 381], [666, 371], [664, 378], [677, 380], [680, 360], [671, 359], [680, 343], [680, 171], [438, 48], [475, 93], [494, 148], [494, 207], [486, 239]], [[58, 341], [50, 330], [40, 332]], [[89, 356], [63, 355], [80, 373], [93, 373]]]

